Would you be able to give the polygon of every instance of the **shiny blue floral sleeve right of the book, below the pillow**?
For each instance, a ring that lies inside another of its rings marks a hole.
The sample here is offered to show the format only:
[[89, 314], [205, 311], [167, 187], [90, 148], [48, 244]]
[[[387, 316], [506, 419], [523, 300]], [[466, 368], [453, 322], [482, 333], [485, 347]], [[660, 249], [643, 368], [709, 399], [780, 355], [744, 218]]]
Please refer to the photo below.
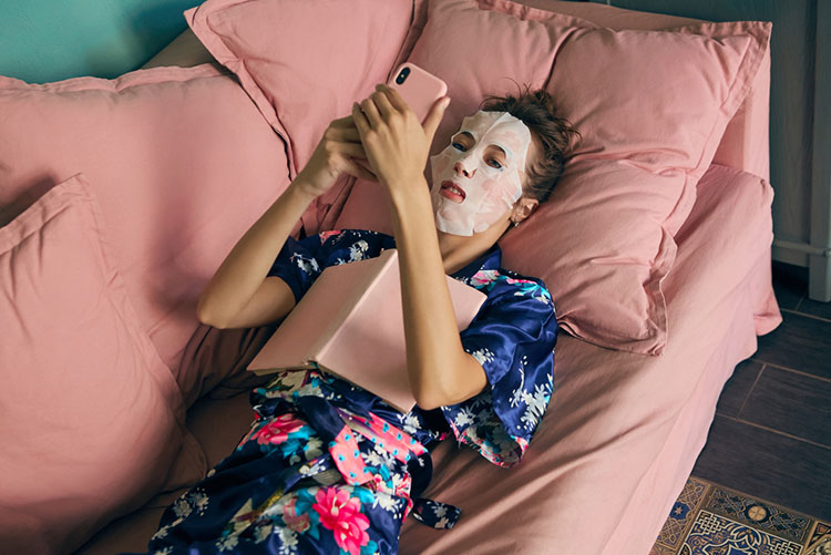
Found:
[[470, 326], [464, 350], [490, 387], [441, 411], [460, 443], [500, 466], [517, 463], [554, 391], [554, 304], [541, 280], [500, 276]]

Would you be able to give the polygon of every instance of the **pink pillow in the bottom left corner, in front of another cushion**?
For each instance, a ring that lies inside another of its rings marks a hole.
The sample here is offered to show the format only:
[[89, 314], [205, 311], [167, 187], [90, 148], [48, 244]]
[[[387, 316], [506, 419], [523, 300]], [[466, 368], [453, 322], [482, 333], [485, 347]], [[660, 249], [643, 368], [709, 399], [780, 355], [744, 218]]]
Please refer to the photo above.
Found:
[[187, 435], [92, 186], [0, 228], [0, 545], [70, 553], [163, 485]]

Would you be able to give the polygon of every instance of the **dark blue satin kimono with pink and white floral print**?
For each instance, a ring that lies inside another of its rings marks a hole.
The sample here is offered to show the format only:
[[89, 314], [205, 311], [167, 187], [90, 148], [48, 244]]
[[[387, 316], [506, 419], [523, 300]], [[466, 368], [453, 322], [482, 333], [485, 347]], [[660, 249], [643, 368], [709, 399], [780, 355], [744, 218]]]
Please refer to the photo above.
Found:
[[[378, 256], [394, 237], [368, 230], [289, 237], [269, 276], [299, 300], [330, 265]], [[314, 370], [252, 390], [255, 420], [234, 452], [170, 505], [147, 553], [394, 554], [408, 514], [451, 528], [458, 507], [421, 497], [429, 446], [449, 434], [500, 466], [517, 463], [554, 390], [557, 325], [542, 280], [500, 268], [494, 245], [452, 275], [488, 298], [460, 332], [489, 388], [458, 404], [401, 413]]]

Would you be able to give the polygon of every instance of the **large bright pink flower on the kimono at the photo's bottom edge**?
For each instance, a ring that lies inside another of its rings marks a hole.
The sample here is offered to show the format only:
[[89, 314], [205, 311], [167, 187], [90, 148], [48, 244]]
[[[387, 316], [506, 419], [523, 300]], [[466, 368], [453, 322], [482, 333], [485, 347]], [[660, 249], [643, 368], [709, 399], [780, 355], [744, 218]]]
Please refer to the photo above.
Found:
[[311, 508], [320, 515], [320, 524], [332, 531], [338, 547], [349, 555], [360, 555], [361, 546], [369, 543], [369, 518], [360, 512], [360, 500], [350, 497], [347, 490], [321, 487], [315, 501]]

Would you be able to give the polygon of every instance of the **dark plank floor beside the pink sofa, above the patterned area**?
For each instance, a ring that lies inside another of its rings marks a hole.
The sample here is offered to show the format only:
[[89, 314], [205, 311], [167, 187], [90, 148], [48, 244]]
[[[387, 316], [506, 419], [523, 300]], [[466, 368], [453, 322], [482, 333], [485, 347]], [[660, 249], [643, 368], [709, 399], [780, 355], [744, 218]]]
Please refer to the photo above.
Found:
[[831, 302], [773, 263], [782, 323], [725, 386], [693, 475], [831, 522]]

